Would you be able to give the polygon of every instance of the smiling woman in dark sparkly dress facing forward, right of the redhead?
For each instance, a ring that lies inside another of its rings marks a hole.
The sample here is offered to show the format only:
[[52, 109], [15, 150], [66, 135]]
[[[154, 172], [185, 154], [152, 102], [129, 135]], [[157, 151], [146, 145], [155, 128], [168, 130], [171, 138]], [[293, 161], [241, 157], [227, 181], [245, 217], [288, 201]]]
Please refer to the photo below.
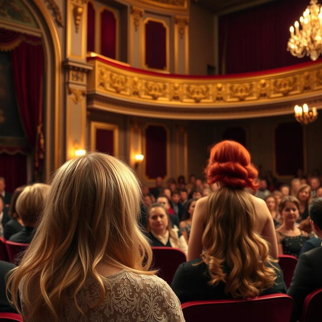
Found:
[[298, 257], [305, 240], [308, 239], [307, 232], [296, 226], [299, 207], [299, 201], [293, 196], [284, 197], [280, 203], [279, 212], [283, 223], [276, 229], [279, 255]]

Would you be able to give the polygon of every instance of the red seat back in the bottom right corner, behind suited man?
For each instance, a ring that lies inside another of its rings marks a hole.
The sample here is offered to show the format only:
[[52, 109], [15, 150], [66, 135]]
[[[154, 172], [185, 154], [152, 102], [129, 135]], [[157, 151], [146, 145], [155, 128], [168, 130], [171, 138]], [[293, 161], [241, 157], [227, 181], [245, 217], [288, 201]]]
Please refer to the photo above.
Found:
[[303, 303], [300, 322], [316, 322], [320, 319], [322, 288], [307, 294]]

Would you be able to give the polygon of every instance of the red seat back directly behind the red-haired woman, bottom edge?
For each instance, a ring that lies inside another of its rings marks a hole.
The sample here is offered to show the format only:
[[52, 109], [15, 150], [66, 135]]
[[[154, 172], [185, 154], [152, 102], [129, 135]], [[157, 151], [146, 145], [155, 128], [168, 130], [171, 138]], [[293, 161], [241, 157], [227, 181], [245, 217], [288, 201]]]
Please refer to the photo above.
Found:
[[293, 298], [278, 293], [252, 299], [191, 301], [181, 307], [186, 322], [288, 322]]

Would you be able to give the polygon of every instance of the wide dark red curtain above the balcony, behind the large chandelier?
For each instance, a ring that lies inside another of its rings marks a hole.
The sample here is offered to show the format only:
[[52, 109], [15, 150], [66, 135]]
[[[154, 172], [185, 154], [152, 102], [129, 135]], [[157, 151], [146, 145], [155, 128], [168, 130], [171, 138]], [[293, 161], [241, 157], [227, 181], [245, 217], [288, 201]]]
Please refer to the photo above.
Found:
[[286, 50], [289, 27], [308, 4], [308, 0], [279, 0], [219, 17], [220, 72], [258, 71], [310, 61]]

